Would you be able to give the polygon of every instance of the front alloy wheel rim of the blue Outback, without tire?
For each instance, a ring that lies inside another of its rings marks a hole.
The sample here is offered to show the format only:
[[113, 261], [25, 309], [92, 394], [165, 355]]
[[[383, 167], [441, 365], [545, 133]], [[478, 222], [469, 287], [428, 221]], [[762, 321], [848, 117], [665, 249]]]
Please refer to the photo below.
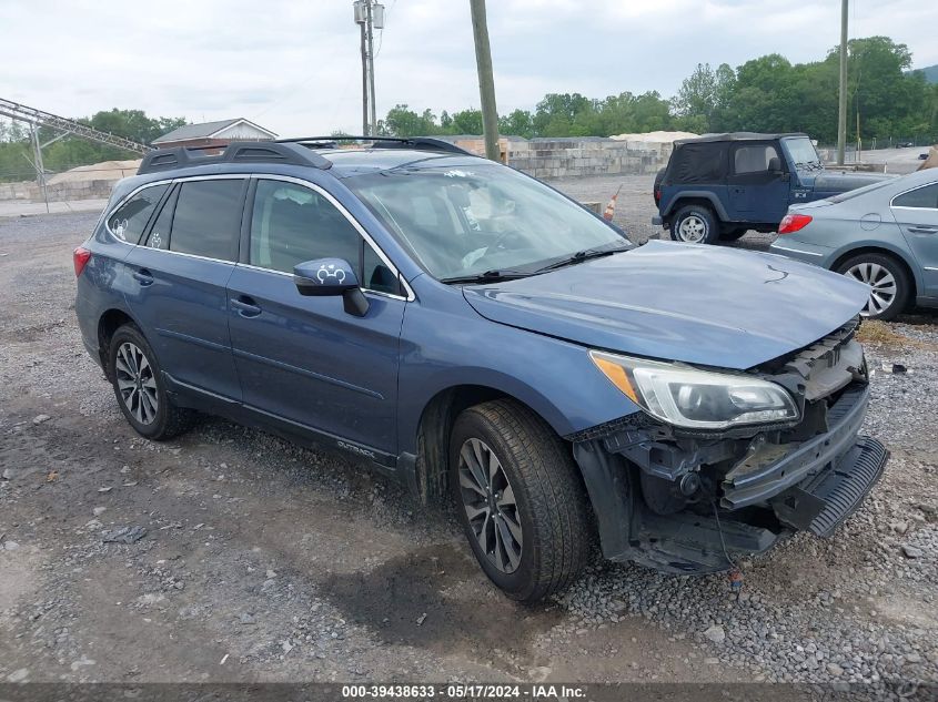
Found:
[[460, 494], [472, 533], [504, 573], [517, 570], [524, 538], [515, 491], [487, 444], [467, 439], [460, 449]]

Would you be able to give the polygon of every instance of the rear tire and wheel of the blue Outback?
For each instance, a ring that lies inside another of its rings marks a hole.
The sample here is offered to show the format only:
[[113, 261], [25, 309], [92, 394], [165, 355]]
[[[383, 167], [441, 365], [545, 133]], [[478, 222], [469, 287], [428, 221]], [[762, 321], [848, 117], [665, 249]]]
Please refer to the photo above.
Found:
[[160, 441], [189, 428], [192, 410], [172, 404], [160, 362], [134, 325], [123, 325], [111, 337], [108, 375], [118, 406], [140, 436]]

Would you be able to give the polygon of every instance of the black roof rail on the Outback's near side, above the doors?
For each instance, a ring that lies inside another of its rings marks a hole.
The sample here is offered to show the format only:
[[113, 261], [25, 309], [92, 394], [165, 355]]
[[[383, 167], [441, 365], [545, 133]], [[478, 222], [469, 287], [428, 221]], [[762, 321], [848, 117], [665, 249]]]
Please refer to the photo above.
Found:
[[310, 165], [316, 169], [332, 167], [332, 161], [310, 151], [305, 145], [289, 142], [242, 141], [232, 142], [220, 154], [203, 154], [202, 151], [219, 149], [211, 146], [176, 146], [158, 149], [143, 156], [138, 175], [158, 171], [173, 171], [190, 166], [212, 165], [215, 163], [283, 163], [289, 165]]

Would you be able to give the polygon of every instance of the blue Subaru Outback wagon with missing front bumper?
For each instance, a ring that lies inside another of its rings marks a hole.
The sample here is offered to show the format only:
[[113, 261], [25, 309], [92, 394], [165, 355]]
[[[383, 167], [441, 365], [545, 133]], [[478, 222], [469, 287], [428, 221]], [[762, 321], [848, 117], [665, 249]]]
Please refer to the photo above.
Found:
[[866, 286], [623, 233], [428, 139], [154, 151], [74, 253], [130, 425], [195, 411], [453, 500], [508, 596], [606, 558], [714, 572], [829, 536], [880, 477], [858, 436]]

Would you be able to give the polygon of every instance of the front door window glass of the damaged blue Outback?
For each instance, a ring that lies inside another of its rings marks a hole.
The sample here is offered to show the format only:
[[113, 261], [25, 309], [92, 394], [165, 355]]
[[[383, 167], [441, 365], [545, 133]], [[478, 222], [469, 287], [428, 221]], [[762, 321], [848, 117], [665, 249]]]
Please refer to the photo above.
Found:
[[[317, 192], [282, 181], [258, 181], [251, 265], [293, 273], [293, 266], [304, 261], [344, 258], [360, 271], [361, 248], [362, 237], [352, 223]], [[362, 284], [367, 286], [369, 278]]]

